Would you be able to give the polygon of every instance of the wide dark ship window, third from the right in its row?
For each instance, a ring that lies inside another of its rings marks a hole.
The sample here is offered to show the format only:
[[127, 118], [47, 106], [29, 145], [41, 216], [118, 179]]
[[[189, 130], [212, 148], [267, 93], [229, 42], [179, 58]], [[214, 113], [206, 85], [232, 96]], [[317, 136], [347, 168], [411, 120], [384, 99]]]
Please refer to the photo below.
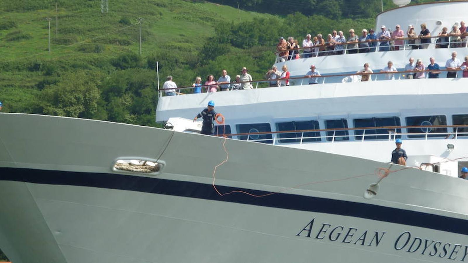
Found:
[[[387, 118], [365, 118], [365, 119], [354, 119], [355, 128], [365, 127], [382, 127], [382, 126], [401, 126], [399, 117], [387, 117]], [[395, 129], [366, 129], [365, 140], [373, 139], [388, 139], [388, 135], [392, 134]], [[396, 129], [396, 133], [402, 133], [402, 129]], [[364, 134], [364, 130], [355, 130], [355, 135]], [[375, 135], [373, 135], [375, 134]], [[382, 134], [382, 135], [377, 135]], [[356, 140], [362, 140], [362, 136], [356, 136]], [[396, 138], [401, 138], [401, 135], [397, 135]]]

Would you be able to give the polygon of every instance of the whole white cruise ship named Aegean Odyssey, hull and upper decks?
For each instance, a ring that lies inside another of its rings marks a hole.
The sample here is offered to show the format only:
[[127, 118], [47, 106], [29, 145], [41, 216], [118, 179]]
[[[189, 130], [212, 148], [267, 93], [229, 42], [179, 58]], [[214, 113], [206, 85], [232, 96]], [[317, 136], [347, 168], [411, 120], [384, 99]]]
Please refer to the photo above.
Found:
[[[402, 6], [375, 27], [426, 23], [437, 36], [467, 10]], [[161, 90], [165, 129], [0, 113], [0, 248], [14, 263], [468, 262], [468, 79], [444, 67], [468, 50], [431, 40], [278, 55], [287, 87]], [[440, 78], [406, 79], [411, 57], [435, 58]], [[389, 60], [395, 80], [378, 73]], [[355, 77], [364, 63], [372, 81]], [[191, 121], [211, 100], [217, 136]], [[396, 139], [405, 166], [390, 163]]]

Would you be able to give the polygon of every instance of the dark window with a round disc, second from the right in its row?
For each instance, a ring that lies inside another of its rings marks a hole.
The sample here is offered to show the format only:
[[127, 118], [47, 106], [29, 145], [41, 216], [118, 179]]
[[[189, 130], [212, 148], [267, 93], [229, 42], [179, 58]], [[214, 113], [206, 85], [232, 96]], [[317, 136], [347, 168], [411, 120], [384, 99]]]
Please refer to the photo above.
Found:
[[[406, 117], [407, 126], [430, 126], [430, 125], [447, 125], [447, 118], [444, 115], [433, 116], [417, 116]], [[420, 133], [418, 135], [408, 135], [408, 138], [424, 138], [425, 133], [429, 133], [427, 137], [445, 137], [447, 128], [408, 128], [408, 133]], [[444, 133], [444, 134], [431, 134]]]

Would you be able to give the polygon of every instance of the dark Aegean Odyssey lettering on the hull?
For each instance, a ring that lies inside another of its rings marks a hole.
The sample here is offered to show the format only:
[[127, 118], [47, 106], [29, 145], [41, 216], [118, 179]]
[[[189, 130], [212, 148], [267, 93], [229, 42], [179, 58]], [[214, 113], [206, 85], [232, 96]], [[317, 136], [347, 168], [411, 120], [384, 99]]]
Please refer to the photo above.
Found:
[[[332, 226], [331, 224], [316, 224], [313, 218], [296, 236], [348, 243], [351, 245], [378, 247], [386, 231], [359, 230], [357, 227]], [[394, 249], [405, 253], [415, 253], [424, 256], [436, 256], [449, 260], [468, 262], [468, 246], [461, 244], [427, 239], [412, 235], [405, 231], [393, 242]]]

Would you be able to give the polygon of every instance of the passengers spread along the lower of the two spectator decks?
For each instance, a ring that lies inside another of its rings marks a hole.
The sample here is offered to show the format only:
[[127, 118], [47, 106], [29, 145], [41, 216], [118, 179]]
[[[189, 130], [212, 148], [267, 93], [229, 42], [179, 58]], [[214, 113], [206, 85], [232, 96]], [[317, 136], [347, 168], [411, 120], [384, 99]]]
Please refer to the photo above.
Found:
[[[457, 71], [463, 71], [463, 78], [468, 78], [468, 56], [465, 56], [465, 61], [461, 63], [460, 59], [457, 58], [457, 52], [452, 52], [452, 58], [447, 59], [445, 63], [447, 70], [447, 78], [456, 78]], [[431, 72], [426, 72], [426, 70], [431, 70]], [[428, 73], [429, 79], [439, 78], [440, 71], [439, 64], [436, 63], [434, 58], [429, 58], [429, 63], [427, 66], [424, 65], [424, 62], [421, 58], [418, 58], [415, 63], [414, 58], [409, 58], [409, 63], [405, 65], [404, 72], [406, 79], [424, 79], [426, 78], [426, 73]], [[370, 68], [368, 63], [364, 64], [364, 68], [357, 72], [361, 75], [360, 81], [370, 81], [372, 80], [371, 75], [373, 70]], [[398, 70], [393, 66], [392, 61], [388, 61], [387, 66], [380, 70], [380, 73], [385, 74], [385, 80], [395, 80], [395, 73], [398, 73]], [[289, 86], [289, 71], [288, 66], [283, 65], [281, 71], [277, 66], [272, 66], [270, 70], [265, 73], [265, 79], [268, 80], [270, 87], [281, 87]], [[308, 84], [318, 84], [318, 78], [322, 75], [316, 69], [314, 65], [310, 66], [310, 71], [304, 76], [308, 78]], [[239, 89], [252, 89], [252, 76], [248, 73], [246, 67], [243, 67], [241, 74], [235, 76], [235, 81], [231, 82], [231, 77], [227, 74], [226, 70], [221, 72], [221, 76], [218, 81], [215, 80], [213, 75], [208, 75], [206, 81], [202, 84], [201, 77], [195, 79], [195, 83], [192, 84], [193, 93], [202, 93], [202, 92], [217, 92], [217, 91], [227, 91], [227, 90], [239, 90]], [[172, 81], [172, 76], [167, 77], [167, 81], [164, 82], [162, 87], [167, 96], [177, 95], [176, 89], [177, 85]], [[205, 90], [203, 90], [205, 89]]]

